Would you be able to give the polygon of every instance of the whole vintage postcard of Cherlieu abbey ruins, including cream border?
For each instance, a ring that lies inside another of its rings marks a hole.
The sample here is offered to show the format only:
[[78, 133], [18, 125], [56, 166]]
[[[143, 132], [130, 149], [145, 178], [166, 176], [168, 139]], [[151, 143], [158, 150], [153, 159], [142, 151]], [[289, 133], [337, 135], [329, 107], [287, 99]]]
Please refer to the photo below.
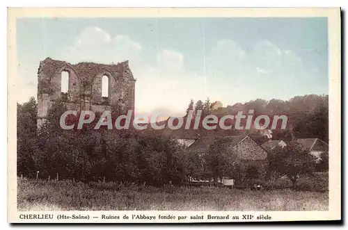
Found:
[[8, 222], [341, 220], [340, 8], [9, 8]]

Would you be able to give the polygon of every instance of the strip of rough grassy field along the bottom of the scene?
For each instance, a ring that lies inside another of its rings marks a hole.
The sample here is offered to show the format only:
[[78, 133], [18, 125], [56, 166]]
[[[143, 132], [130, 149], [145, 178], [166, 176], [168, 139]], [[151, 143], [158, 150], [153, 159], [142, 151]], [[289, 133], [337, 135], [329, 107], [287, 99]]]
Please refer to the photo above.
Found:
[[18, 179], [19, 211], [324, 211], [329, 192], [124, 186]]

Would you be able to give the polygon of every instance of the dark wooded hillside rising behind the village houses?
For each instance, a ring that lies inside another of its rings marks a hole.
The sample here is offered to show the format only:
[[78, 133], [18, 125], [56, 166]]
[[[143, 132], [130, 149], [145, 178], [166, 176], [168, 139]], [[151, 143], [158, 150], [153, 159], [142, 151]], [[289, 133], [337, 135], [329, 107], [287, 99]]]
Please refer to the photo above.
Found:
[[[248, 114], [248, 110], [253, 110], [254, 117], [258, 115], [267, 115], [274, 117], [274, 115], [286, 115], [287, 127], [286, 129], [273, 130], [273, 140], [292, 141], [296, 138], [319, 138], [326, 143], [329, 143], [329, 96], [328, 95], [304, 95], [296, 96], [287, 101], [280, 99], [271, 99], [269, 101], [264, 99], [255, 99], [253, 101], [246, 101], [237, 103], [232, 106], [221, 107], [212, 110], [210, 107], [211, 101], [207, 98], [204, 102], [202, 100], [189, 101], [187, 106], [187, 114], [189, 110], [197, 111], [203, 110], [203, 116], [213, 114], [217, 117], [223, 115], [235, 115], [242, 111], [244, 115]], [[231, 122], [231, 121], [229, 121]], [[233, 121], [232, 121], [233, 126]], [[270, 125], [272, 122], [270, 122]], [[243, 124], [245, 125], [245, 124]], [[265, 142], [267, 138], [262, 135], [255, 135], [253, 131], [240, 130], [216, 130], [217, 135], [240, 135], [244, 134], [254, 135], [256, 141], [260, 144]], [[203, 129], [198, 129], [200, 135], [205, 135]]]

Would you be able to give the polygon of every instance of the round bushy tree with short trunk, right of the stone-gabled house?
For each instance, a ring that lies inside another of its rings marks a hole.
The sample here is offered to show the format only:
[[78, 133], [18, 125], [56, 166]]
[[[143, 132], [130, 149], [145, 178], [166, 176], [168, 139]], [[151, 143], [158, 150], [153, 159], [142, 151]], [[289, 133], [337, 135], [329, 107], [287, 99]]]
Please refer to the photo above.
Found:
[[297, 142], [290, 142], [285, 147], [276, 147], [269, 156], [269, 169], [287, 176], [296, 188], [296, 181], [301, 174], [312, 174], [315, 170], [315, 156], [308, 149], [303, 149]]

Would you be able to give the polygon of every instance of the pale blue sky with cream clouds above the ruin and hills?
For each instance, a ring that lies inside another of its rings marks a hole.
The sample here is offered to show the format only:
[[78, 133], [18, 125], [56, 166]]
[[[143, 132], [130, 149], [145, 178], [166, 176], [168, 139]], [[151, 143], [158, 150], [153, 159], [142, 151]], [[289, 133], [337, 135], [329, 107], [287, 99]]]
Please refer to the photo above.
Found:
[[37, 96], [47, 57], [129, 60], [136, 113], [182, 115], [189, 101], [223, 106], [329, 94], [328, 30], [310, 18], [19, 18], [18, 102]]

